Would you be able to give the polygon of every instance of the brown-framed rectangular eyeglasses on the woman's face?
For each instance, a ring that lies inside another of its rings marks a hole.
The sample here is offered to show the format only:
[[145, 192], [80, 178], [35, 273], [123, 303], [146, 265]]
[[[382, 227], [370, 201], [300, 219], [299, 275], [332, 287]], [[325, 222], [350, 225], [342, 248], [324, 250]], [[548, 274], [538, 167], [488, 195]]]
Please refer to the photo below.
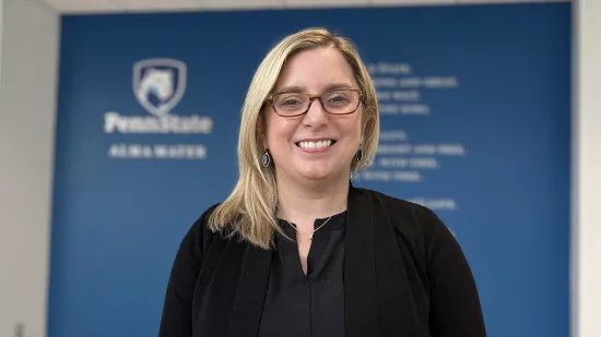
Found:
[[361, 89], [349, 88], [316, 95], [299, 92], [276, 93], [269, 95], [267, 100], [271, 103], [275, 113], [282, 117], [296, 117], [307, 113], [314, 99], [319, 99], [328, 113], [351, 115], [358, 109], [362, 97]]

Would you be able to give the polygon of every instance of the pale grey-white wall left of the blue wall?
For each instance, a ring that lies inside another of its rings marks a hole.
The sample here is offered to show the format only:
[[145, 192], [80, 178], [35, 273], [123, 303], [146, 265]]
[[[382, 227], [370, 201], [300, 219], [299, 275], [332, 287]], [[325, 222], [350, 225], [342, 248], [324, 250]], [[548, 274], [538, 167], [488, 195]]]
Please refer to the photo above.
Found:
[[59, 16], [0, 0], [0, 337], [46, 336]]

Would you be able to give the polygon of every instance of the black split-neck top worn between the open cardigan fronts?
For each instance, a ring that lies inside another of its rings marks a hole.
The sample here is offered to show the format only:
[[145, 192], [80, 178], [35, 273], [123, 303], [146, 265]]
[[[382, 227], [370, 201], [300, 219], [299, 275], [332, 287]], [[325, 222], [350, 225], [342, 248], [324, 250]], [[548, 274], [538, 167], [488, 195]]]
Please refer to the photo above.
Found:
[[[315, 228], [326, 219], [317, 219]], [[303, 273], [296, 241], [275, 236], [259, 337], [344, 336], [344, 234], [346, 213], [332, 216], [314, 234]], [[280, 220], [296, 239], [290, 224]]]

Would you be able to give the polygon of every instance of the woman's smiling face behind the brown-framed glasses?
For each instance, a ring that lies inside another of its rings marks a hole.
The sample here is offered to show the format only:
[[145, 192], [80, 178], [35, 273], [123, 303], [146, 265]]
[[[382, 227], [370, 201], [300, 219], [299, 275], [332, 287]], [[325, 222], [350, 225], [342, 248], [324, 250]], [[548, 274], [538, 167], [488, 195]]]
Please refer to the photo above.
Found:
[[[321, 94], [341, 88], [360, 88], [351, 67], [337, 49], [319, 48], [300, 51], [288, 59], [272, 93]], [[339, 95], [323, 98], [330, 111], [345, 99]], [[282, 104], [290, 107], [298, 101]], [[279, 111], [286, 108], [282, 104], [275, 105]], [[279, 179], [347, 178], [361, 145], [362, 115], [362, 104], [353, 113], [328, 113], [319, 99], [313, 100], [307, 113], [297, 117], [282, 117], [271, 104], [266, 105], [262, 141], [271, 153]]]

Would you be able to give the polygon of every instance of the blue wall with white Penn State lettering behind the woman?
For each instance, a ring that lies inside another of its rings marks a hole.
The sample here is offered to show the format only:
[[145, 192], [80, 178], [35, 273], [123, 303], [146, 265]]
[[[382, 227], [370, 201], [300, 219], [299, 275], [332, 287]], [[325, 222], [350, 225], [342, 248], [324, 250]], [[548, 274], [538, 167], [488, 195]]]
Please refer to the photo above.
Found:
[[[351, 37], [378, 84], [355, 184], [439, 214], [490, 336], [568, 336], [569, 3], [63, 17], [49, 336], [156, 336], [179, 241], [237, 178], [252, 73], [308, 26]], [[148, 59], [185, 64], [170, 110], [134, 95]]]

